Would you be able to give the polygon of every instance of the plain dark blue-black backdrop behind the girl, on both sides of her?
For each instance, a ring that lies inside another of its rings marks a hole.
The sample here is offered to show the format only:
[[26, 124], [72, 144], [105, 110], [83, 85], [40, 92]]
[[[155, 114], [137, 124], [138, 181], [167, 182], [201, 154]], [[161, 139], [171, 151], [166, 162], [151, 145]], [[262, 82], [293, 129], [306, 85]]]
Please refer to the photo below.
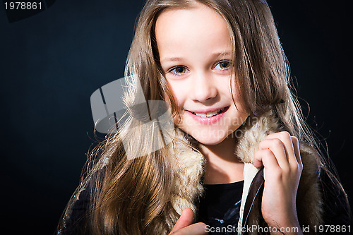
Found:
[[[352, 196], [352, 1], [271, 1], [308, 123]], [[0, 7], [1, 229], [53, 234], [94, 143], [90, 95], [124, 76], [143, 1]], [[323, 142], [323, 145], [325, 145]]]

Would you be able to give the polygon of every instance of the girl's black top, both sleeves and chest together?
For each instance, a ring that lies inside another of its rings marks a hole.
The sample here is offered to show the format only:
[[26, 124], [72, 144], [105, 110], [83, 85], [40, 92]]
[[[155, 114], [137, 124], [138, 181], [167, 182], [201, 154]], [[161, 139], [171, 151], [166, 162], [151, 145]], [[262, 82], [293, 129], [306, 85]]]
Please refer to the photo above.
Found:
[[[321, 192], [323, 193], [323, 224], [330, 226], [345, 226], [345, 232], [330, 233], [330, 231], [318, 234], [350, 234], [353, 231], [352, 215], [345, 193], [337, 187], [337, 182], [330, 181], [326, 171], [320, 174]], [[211, 227], [227, 227], [231, 224], [237, 229], [239, 220], [239, 207], [244, 181], [221, 185], [206, 185], [205, 195], [199, 205], [198, 221]], [[88, 185], [89, 187], [89, 185]], [[73, 204], [71, 216], [66, 220], [64, 227], [58, 234], [80, 235], [90, 234], [88, 230], [87, 208], [90, 203], [90, 190], [80, 193], [78, 200]], [[351, 225], [350, 227], [348, 227]], [[212, 234], [209, 232], [209, 234]], [[214, 233], [217, 234], [217, 233]], [[227, 234], [218, 233], [218, 234]], [[232, 234], [232, 233], [228, 233]], [[235, 233], [233, 233], [235, 234]]]

